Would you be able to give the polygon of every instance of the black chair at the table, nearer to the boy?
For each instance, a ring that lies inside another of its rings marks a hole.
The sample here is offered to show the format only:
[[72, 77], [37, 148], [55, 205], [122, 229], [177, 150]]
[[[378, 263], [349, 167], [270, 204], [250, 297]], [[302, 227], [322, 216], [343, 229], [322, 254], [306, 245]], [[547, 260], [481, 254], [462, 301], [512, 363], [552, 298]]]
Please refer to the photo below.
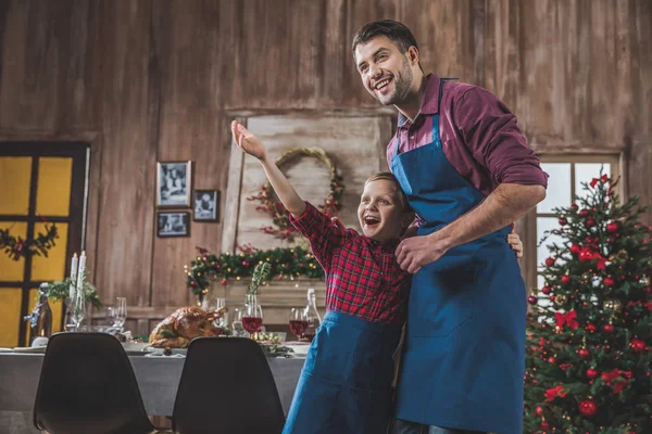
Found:
[[174, 403], [178, 434], [279, 434], [285, 414], [263, 350], [246, 337], [190, 342]]

